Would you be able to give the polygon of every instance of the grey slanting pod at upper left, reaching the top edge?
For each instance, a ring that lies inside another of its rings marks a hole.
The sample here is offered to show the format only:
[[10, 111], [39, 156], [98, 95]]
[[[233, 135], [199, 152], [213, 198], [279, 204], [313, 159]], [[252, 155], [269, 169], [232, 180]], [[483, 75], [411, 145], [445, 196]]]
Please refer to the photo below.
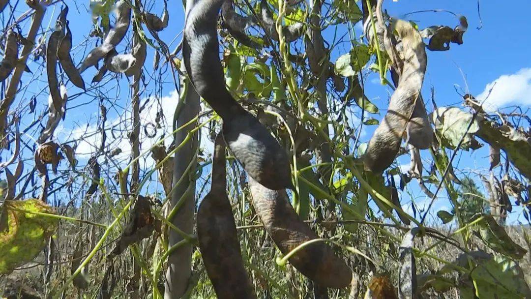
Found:
[[79, 68], [79, 72], [82, 73], [89, 67], [96, 65], [102, 58], [107, 55], [111, 50], [122, 41], [129, 29], [131, 23], [131, 7], [124, 1], [120, 0], [116, 3], [116, 23], [114, 28], [109, 30], [105, 40], [101, 46], [96, 47], [90, 51], [85, 57], [83, 63]]

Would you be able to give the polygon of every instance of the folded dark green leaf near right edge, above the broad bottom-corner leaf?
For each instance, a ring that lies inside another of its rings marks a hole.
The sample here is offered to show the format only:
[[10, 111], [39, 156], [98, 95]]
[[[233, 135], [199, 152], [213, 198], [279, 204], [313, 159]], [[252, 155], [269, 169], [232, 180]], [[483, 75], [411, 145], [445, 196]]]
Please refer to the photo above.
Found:
[[498, 225], [491, 215], [483, 215], [483, 221], [479, 222], [478, 225], [480, 227], [479, 234], [490, 249], [517, 260], [523, 258], [527, 253], [527, 250], [511, 240], [505, 229]]

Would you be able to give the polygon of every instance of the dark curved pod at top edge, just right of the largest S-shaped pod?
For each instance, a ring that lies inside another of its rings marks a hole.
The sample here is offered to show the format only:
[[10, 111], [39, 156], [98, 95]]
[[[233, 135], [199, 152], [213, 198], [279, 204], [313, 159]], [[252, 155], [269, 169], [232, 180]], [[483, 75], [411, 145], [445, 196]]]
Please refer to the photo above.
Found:
[[260, 49], [262, 46], [246, 35], [245, 29], [253, 24], [253, 18], [236, 13], [232, 0], [225, 0], [221, 5], [221, 27], [225, 28], [230, 35], [242, 45]]

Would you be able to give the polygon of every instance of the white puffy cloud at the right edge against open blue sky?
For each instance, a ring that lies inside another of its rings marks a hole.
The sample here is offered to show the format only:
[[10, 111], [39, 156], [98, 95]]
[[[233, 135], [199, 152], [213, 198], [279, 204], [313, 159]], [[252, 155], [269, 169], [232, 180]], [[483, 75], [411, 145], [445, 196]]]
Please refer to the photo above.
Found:
[[[489, 91], [492, 89], [490, 96]], [[508, 105], [531, 105], [531, 68], [521, 69], [515, 74], [501, 75], [487, 84], [477, 99], [485, 98], [484, 108], [493, 111]]]

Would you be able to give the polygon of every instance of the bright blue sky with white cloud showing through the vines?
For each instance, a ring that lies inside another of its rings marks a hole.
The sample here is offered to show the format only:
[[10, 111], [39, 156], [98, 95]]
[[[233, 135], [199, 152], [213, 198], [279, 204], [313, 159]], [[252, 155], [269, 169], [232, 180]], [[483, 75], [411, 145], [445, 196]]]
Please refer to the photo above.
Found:
[[[78, 45], [85, 37], [88, 36], [91, 30], [90, 15], [87, 13], [88, 1], [83, 2], [67, 2], [70, 5], [70, 13], [68, 20], [70, 20], [71, 30], [74, 32], [73, 44]], [[155, 2], [148, 0], [147, 7], [150, 11], [156, 14], [162, 12], [162, 1], [157, 0]], [[358, 2], [359, 4], [359, 2]], [[424, 81], [423, 95], [424, 99], [429, 99], [430, 89], [433, 86], [435, 89], [435, 101], [439, 107], [441, 106], [460, 106], [461, 98], [456, 93], [455, 87], [458, 89], [466, 90], [473, 95], [481, 95], [485, 89], [488, 89], [489, 84], [498, 80], [496, 87], [491, 95], [490, 101], [492, 104], [499, 105], [501, 107], [510, 105], [520, 105], [529, 107], [531, 105], [531, 59], [529, 59], [529, 48], [531, 48], [531, 39], [529, 39], [529, 33], [527, 30], [530, 28], [528, 12], [531, 8], [531, 3], [525, 0], [516, 0], [511, 2], [511, 7], [503, 5], [503, 2], [499, 1], [481, 1], [481, 16], [483, 19], [483, 27], [481, 30], [477, 30], [479, 26], [479, 19], [477, 13], [476, 1], [407, 1], [399, 0], [398, 2], [386, 1], [384, 8], [386, 8], [391, 16], [397, 18], [406, 18], [408, 20], [415, 21], [420, 28], [425, 28], [431, 25], [449, 25], [453, 27], [457, 24], [455, 16], [439, 12], [425, 12], [416, 13], [412, 15], [404, 16], [406, 13], [422, 10], [448, 10], [455, 12], [456, 14], [463, 14], [468, 19], [469, 28], [464, 36], [464, 44], [456, 45], [452, 44], [451, 49], [447, 52], [428, 52], [428, 64], [427, 72]], [[25, 11], [20, 10], [17, 14]], [[59, 12], [60, 6], [50, 7], [45, 16], [43, 22], [43, 28], [47, 29], [53, 26], [55, 18]], [[167, 42], [170, 49], [174, 49], [178, 42], [181, 40], [179, 35], [183, 28], [184, 11], [181, 1], [169, 0], [168, 10], [170, 15], [170, 22], [167, 29], [160, 32], [160, 38]], [[27, 26], [23, 28], [23, 32], [27, 32]], [[342, 29], [344, 31], [344, 29]], [[340, 30], [341, 31], [341, 30]], [[359, 35], [361, 32], [359, 24], [356, 26], [356, 32]], [[48, 33], [49, 34], [49, 33]], [[326, 39], [332, 38], [333, 32], [327, 30], [324, 33]], [[170, 42], [171, 41], [171, 42]], [[94, 45], [95, 39], [90, 39], [91, 45]], [[124, 42], [122, 44], [125, 44]], [[124, 50], [125, 46], [120, 46], [118, 50]], [[83, 56], [86, 54], [83, 52], [84, 47], [75, 47], [73, 49], [74, 63], [79, 63]], [[333, 50], [331, 54], [331, 61], [335, 62], [335, 59], [341, 54], [348, 53], [349, 44], [345, 43], [340, 47]], [[157, 101], [150, 101], [147, 108], [144, 110], [144, 119], [146, 121], [153, 121], [158, 108], [162, 108], [167, 116], [173, 114], [177, 102], [177, 93], [175, 93], [172, 77], [169, 72], [162, 76], [162, 84], [153, 83], [154, 80], [149, 76], [152, 74], [158, 74], [158, 72], [152, 71], [152, 50], [148, 52], [148, 58], [145, 64], [144, 74], [146, 74], [146, 84], [148, 90], [142, 95], [145, 99], [148, 96], [157, 96], [159, 99], [160, 107], [157, 105]], [[40, 62], [32, 62], [29, 64], [30, 69], [36, 70]], [[87, 86], [95, 69], [90, 69], [83, 73], [83, 78]], [[39, 76], [37, 72], [34, 72]], [[29, 79], [30, 74], [26, 74], [24, 78]], [[32, 95], [36, 95], [38, 99], [39, 111], [43, 106], [47, 105], [47, 87], [46, 87], [46, 75], [40, 74], [39, 81], [33, 83], [32, 86], [24, 88], [23, 93], [18, 96], [20, 100], [20, 106], [23, 108], [25, 101], [23, 99], [30, 98]], [[365, 92], [366, 95], [378, 106], [382, 113], [379, 117], [383, 116], [384, 109], [387, 107], [389, 98], [389, 89], [380, 85], [378, 75], [372, 74], [366, 78]], [[125, 79], [111, 80], [105, 84], [102, 89], [104, 92], [98, 95], [90, 93], [90, 96], [83, 95], [78, 98], [74, 98], [68, 102], [68, 107], [72, 108], [68, 110], [66, 119], [62, 123], [62, 127], [59, 128], [57, 138], [59, 141], [67, 141], [73, 136], [79, 137], [80, 134], [85, 134], [84, 129], [87, 124], [94, 124], [98, 118], [98, 105], [97, 100], [94, 97], [117, 97], [119, 101], [117, 104], [130, 109], [128, 106], [130, 99], [130, 92], [128, 88], [128, 82]], [[68, 94], [70, 96], [79, 93], [80, 90], [72, 86], [71, 83], [67, 84]], [[39, 108], [40, 107], [40, 108]], [[75, 107], [75, 108], [73, 108]], [[433, 110], [431, 104], [427, 106], [429, 112]], [[120, 109], [109, 109], [108, 124], [118, 122], [120, 119], [129, 117], [128, 113], [123, 113]], [[378, 117], [377, 117], [378, 118]], [[33, 119], [23, 119], [22, 127], [24, 124], [29, 124]], [[73, 132], [72, 132], [73, 128]], [[96, 130], [96, 127], [89, 126], [89, 132]], [[164, 131], [164, 130], [162, 130]], [[164, 134], [159, 131], [158, 135]], [[167, 130], [166, 130], [167, 132]], [[367, 130], [363, 135], [362, 141], [368, 141], [371, 136], [371, 129]], [[87, 135], [87, 138], [91, 142], [97, 141], [94, 137], [91, 139]], [[25, 139], [31, 143], [31, 138], [25, 136]], [[129, 148], [125, 136], [118, 138], [112, 142], [113, 147], [122, 147], [124, 149]], [[91, 150], [87, 144], [81, 144], [80, 148], [85, 147], [85, 152]], [[144, 147], [149, 148], [149, 142], [144, 144]], [[87, 158], [82, 156], [83, 150], [80, 149], [79, 158]], [[128, 152], [124, 153], [125, 156]], [[454, 161], [456, 168], [470, 170], [470, 169], [482, 169], [488, 168], [489, 155], [488, 147], [476, 150], [474, 152], [461, 152]], [[124, 157], [125, 157], [124, 156]], [[423, 153], [426, 156], [426, 153]], [[84, 165], [83, 159], [81, 159], [81, 165]], [[148, 165], [152, 163], [148, 160]], [[399, 163], [404, 168], [409, 165], [409, 157], [402, 157], [399, 159]], [[469, 175], [468, 173], [457, 173], [458, 176]], [[155, 178], [155, 177], [153, 177]], [[154, 181], [153, 181], [154, 182]], [[155, 188], [155, 183], [150, 185], [150, 188]], [[408, 185], [407, 192], [414, 199], [415, 203], [422, 206], [425, 202], [425, 197], [416, 186], [417, 183], [412, 181]], [[483, 186], [478, 184], [481, 188]], [[151, 190], [150, 189], [150, 190]], [[434, 189], [434, 187], [432, 187]], [[450, 209], [449, 203], [446, 200], [446, 193], [441, 191], [439, 193], [440, 199], [433, 207], [433, 211], [438, 209]], [[406, 200], [406, 198], [408, 200]], [[409, 195], [402, 194], [402, 202], [405, 208], [409, 205]], [[511, 220], [514, 221], [519, 216], [519, 209], [513, 212]], [[520, 219], [523, 219], [520, 218]]]

